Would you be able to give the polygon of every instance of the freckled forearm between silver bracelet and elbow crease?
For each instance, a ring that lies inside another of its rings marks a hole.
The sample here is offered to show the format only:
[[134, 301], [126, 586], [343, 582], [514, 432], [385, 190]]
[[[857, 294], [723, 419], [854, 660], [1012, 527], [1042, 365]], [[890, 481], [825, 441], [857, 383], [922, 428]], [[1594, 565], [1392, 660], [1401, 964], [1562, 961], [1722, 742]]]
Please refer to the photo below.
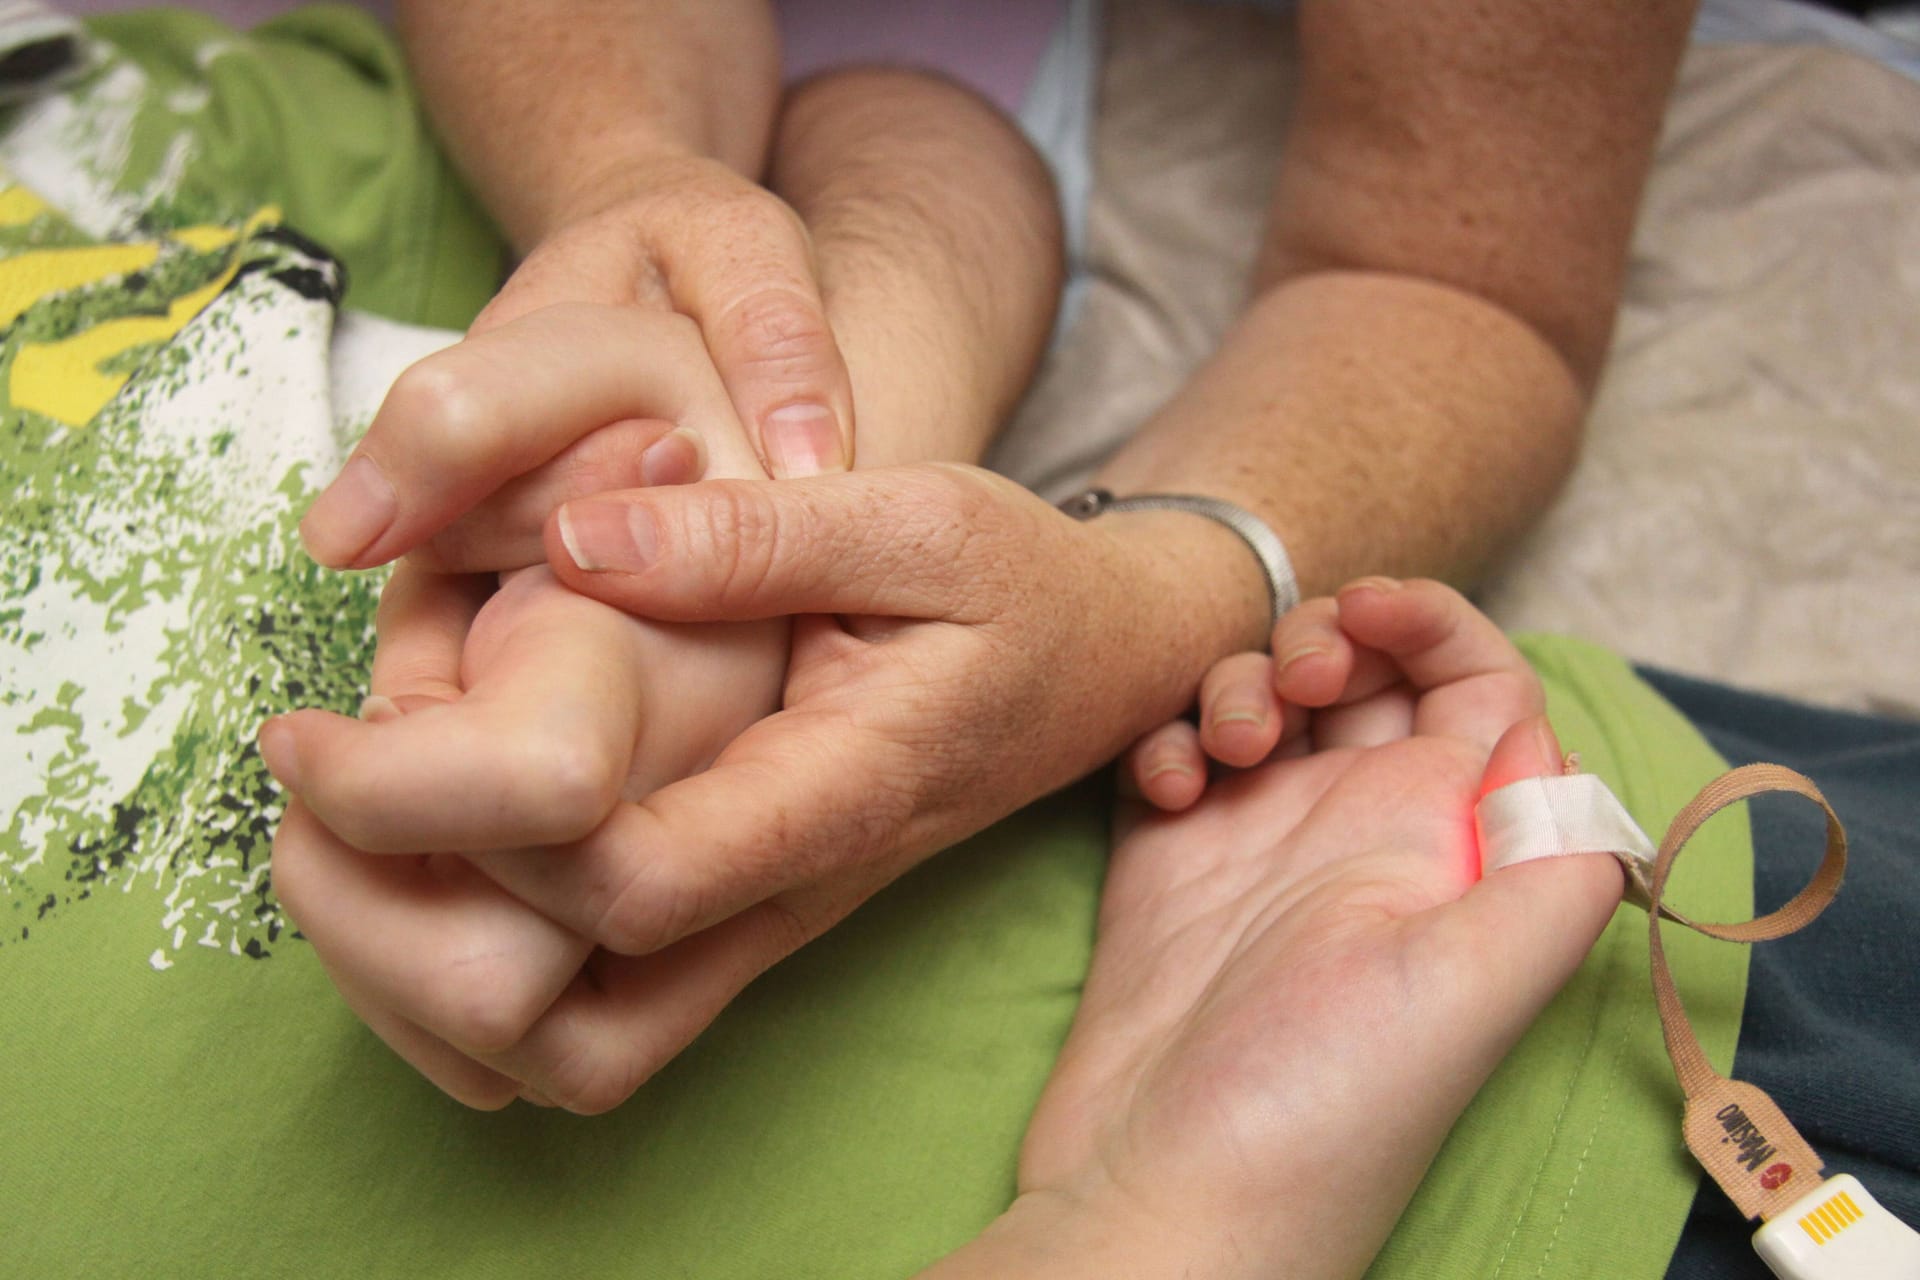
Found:
[[1551, 499], [1582, 411], [1567, 363], [1503, 309], [1319, 273], [1261, 296], [1100, 484], [1254, 510], [1306, 595], [1359, 574], [1459, 583]]

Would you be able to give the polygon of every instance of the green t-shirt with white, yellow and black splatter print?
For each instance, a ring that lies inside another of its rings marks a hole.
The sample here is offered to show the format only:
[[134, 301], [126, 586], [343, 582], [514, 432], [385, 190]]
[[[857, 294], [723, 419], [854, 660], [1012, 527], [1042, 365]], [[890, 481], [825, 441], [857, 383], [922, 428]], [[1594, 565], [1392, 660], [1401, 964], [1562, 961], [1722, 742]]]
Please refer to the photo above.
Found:
[[[253, 731], [365, 687], [378, 581], [294, 537], [367, 416], [334, 255], [348, 305], [459, 324], [497, 242], [365, 15], [94, 31], [0, 129], [0, 1276], [854, 1280], [962, 1244], [1073, 1017], [1106, 796], [904, 877], [612, 1115], [420, 1080], [280, 912]], [[1528, 652], [1649, 831], [1720, 770], [1619, 658]], [[1682, 865], [1690, 910], [1749, 908], [1741, 821]], [[1745, 956], [1668, 946], [1724, 1067]], [[1622, 912], [1373, 1274], [1661, 1274], [1693, 1174], [1645, 963]]]

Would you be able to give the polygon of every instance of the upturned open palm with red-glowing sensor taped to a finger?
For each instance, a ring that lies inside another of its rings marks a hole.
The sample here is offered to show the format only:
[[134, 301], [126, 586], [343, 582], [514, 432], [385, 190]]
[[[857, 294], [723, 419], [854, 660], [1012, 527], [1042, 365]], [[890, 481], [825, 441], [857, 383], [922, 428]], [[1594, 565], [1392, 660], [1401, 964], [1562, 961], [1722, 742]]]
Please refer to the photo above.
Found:
[[1519, 652], [1438, 583], [1357, 583], [1286, 639], [1329, 624], [1336, 745], [1133, 812], [1021, 1196], [933, 1276], [1361, 1274], [1599, 936], [1605, 854], [1480, 879], [1478, 796], [1561, 764]]

